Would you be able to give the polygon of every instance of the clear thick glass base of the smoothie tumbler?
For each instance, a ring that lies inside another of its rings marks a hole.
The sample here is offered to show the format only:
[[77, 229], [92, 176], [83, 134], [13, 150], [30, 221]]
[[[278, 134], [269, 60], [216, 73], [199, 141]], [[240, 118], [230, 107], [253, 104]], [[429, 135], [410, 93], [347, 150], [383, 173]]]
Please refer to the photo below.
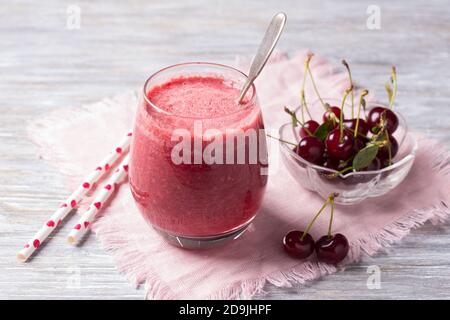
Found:
[[[253, 220], [253, 219], [252, 219]], [[158, 229], [152, 226], [160, 236], [162, 236], [168, 243], [183, 249], [206, 249], [215, 247], [218, 245], [225, 244], [232, 240], [239, 238], [247, 227], [250, 225], [251, 221], [246, 223], [244, 226], [237, 230], [221, 234], [219, 236], [212, 237], [184, 237], [170, 234], [164, 230]]]

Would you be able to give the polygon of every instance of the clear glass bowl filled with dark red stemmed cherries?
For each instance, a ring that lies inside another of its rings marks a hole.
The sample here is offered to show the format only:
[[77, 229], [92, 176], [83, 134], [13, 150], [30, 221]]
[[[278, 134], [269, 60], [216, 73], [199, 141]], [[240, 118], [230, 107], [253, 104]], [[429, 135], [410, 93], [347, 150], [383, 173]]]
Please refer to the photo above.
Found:
[[[301, 105], [285, 108], [290, 122], [279, 130], [281, 156], [289, 173], [304, 188], [324, 199], [351, 205], [386, 194], [409, 173], [417, 142], [405, 119], [393, 110], [397, 93], [395, 68], [386, 84], [389, 103], [366, 103], [367, 90], [349, 88], [341, 100], [322, 98], [305, 63], [318, 100], [306, 103], [304, 83]], [[304, 82], [306, 77], [304, 79]]]

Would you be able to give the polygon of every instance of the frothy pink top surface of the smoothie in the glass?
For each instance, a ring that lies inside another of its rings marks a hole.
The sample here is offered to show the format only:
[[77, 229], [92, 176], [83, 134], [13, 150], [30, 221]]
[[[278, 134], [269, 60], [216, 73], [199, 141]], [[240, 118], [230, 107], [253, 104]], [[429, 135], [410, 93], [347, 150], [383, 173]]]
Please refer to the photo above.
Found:
[[153, 87], [148, 99], [177, 116], [219, 117], [242, 109], [239, 89], [219, 76], [184, 76]]

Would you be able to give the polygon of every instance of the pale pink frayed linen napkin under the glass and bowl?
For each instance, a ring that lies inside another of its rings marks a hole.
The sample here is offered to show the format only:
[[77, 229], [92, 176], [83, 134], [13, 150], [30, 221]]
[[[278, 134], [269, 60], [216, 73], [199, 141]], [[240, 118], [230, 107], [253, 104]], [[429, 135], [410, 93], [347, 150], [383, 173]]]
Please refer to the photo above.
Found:
[[[282, 111], [285, 105], [298, 105], [304, 58], [304, 52], [292, 57], [280, 54], [257, 80], [269, 130], [288, 121]], [[246, 70], [248, 62], [241, 59], [236, 64]], [[345, 73], [319, 57], [313, 59], [312, 69], [327, 97], [341, 96], [348, 85]], [[310, 87], [307, 91], [307, 96], [314, 95]], [[64, 174], [70, 191], [132, 127], [136, 105], [136, 93], [129, 92], [58, 110], [31, 123], [30, 137], [41, 146], [41, 155]], [[271, 153], [275, 152], [278, 149], [272, 148]], [[382, 198], [337, 207], [334, 231], [345, 234], [351, 244], [344, 266], [363, 253], [375, 254], [428, 220], [440, 223], [450, 215], [449, 159], [437, 142], [420, 139], [415, 164], [399, 187]], [[226, 246], [186, 251], [167, 244], [141, 218], [128, 185], [120, 187], [93, 230], [119, 271], [134, 284], [145, 284], [149, 299], [251, 298], [263, 292], [266, 282], [290, 287], [337, 271], [314, 258], [292, 259], [281, 246], [284, 234], [291, 229], [304, 230], [322, 203], [317, 195], [299, 187], [281, 166], [278, 174], [269, 177], [257, 218], [240, 239]], [[313, 237], [325, 234], [327, 224], [323, 215], [312, 229]]]

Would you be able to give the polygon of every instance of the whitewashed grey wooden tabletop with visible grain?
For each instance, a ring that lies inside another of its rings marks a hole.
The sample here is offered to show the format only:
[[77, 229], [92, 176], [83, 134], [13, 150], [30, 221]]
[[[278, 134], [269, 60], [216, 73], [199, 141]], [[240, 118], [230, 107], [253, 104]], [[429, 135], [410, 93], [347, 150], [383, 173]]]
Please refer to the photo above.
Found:
[[[381, 29], [366, 9], [381, 9]], [[81, 8], [81, 28], [66, 27]], [[450, 6], [437, 1], [80, 1], [0, 2], [0, 298], [142, 299], [93, 237], [71, 248], [69, 223], [31, 263], [18, 247], [67, 195], [61, 175], [27, 140], [26, 122], [58, 108], [135, 88], [151, 72], [188, 60], [229, 62], [253, 54], [274, 12], [289, 18], [281, 50], [343, 57], [359, 83], [382, 95], [399, 71], [399, 110], [410, 127], [450, 147]], [[432, 187], [432, 186], [430, 186]], [[413, 231], [388, 254], [302, 288], [267, 285], [268, 299], [450, 298], [450, 224]], [[366, 286], [378, 265], [381, 289]], [[80, 281], [78, 281], [78, 279]], [[263, 296], [258, 296], [263, 298]]]

